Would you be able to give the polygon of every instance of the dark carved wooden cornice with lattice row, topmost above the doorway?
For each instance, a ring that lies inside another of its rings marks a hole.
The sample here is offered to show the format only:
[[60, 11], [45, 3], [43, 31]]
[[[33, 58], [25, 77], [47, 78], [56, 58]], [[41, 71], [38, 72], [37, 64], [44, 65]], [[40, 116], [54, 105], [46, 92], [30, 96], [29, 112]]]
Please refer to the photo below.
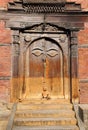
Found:
[[61, 13], [81, 11], [81, 6], [75, 2], [68, 3], [66, 0], [15, 0], [9, 2], [8, 10], [26, 13]]

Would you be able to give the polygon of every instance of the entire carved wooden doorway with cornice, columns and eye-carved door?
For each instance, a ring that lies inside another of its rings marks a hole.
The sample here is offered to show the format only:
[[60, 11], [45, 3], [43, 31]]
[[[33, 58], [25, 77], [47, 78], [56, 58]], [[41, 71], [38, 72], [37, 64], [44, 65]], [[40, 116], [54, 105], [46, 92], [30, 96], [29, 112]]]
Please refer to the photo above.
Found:
[[9, 2], [5, 20], [12, 30], [12, 102], [42, 98], [45, 90], [51, 99], [79, 102], [78, 32], [84, 28], [83, 14], [80, 4], [66, 0]]

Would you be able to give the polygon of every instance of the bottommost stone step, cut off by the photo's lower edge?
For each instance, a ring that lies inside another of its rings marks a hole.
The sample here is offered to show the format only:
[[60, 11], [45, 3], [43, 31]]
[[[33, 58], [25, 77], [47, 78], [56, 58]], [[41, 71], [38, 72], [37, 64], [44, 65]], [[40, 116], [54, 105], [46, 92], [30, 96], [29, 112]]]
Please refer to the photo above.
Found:
[[12, 130], [79, 130], [75, 125], [73, 126], [40, 126], [40, 127], [28, 127], [28, 126], [14, 126]]

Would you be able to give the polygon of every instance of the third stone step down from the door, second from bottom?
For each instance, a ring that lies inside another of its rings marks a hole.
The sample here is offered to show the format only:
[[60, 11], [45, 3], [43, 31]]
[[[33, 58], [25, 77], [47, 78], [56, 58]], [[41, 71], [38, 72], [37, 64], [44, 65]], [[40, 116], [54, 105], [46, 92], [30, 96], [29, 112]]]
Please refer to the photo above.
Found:
[[76, 125], [75, 118], [15, 118], [14, 125], [17, 126], [57, 126]]

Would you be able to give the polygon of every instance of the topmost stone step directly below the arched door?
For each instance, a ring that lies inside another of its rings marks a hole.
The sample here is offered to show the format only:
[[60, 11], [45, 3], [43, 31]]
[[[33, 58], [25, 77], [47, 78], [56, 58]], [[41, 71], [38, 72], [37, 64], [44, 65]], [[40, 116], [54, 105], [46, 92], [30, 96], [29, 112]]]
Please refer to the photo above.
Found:
[[73, 109], [72, 104], [18, 104], [17, 110]]

